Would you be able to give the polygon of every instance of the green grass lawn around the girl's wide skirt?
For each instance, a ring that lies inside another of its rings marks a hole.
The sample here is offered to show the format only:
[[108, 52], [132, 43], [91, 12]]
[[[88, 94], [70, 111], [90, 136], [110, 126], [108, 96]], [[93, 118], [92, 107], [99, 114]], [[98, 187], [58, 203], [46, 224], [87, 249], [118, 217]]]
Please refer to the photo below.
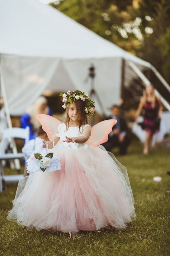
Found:
[[[81, 238], [28, 231], [7, 221], [17, 187], [7, 184], [7, 190], [0, 194], [0, 255], [170, 255], [169, 156], [170, 150], [152, 150], [143, 156], [142, 145], [136, 140], [128, 155], [117, 155], [128, 170], [137, 219], [126, 230], [82, 232]], [[5, 173], [11, 170], [5, 169]], [[161, 176], [162, 181], [154, 182], [154, 176]]]

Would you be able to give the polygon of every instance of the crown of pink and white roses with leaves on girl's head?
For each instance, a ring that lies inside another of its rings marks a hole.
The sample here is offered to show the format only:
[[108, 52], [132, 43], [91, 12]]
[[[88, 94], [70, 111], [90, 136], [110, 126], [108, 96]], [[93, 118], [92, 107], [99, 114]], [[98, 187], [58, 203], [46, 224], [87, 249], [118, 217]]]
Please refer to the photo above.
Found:
[[63, 103], [62, 107], [66, 109], [66, 107], [69, 105], [69, 103], [73, 103], [75, 100], [81, 100], [85, 102], [85, 109], [86, 117], [90, 117], [94, 115], [95, 106], [94, 102], [89, 98], [88, 94], [85, 94], [85, 92], [81, 91], [68, 91], [66, 93], [60, 93], [60, 96], [63, 97]]

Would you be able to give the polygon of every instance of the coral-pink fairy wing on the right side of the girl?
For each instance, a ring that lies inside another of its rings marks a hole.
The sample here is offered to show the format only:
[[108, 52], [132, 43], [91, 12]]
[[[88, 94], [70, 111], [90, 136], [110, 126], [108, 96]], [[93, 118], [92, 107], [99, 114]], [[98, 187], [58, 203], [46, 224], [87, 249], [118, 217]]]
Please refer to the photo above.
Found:
[[91, 128], [91, 136], [86, 142], [88, 145], [97, 146], [108, 140], [108, 134], [112, 132], [112, 127], [117, 123], [115, 119], [102, 121]]

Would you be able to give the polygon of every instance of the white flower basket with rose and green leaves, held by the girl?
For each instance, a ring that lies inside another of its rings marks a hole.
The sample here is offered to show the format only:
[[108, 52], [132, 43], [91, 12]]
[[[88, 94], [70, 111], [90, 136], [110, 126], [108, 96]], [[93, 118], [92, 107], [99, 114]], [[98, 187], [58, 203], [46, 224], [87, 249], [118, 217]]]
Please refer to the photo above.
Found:
[[59, 156], [42, 150], [40, 153], [32, 153], [27, 160], [27, 172], [53, 172], [61, 170]]

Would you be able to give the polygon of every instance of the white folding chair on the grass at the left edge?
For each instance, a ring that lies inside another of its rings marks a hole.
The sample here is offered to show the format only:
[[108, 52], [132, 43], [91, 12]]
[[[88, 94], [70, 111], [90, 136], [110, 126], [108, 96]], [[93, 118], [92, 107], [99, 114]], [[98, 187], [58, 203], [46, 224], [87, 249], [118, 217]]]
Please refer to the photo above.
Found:
[[[18, 127], [13, 127], [13, 128], [6, 128], [3, 130], [3, 139], [8, 139], [9, 141], [14, 138], [22, 138], [25, 139], [25, 143], [29, 141], [29, 127], [27, 126], [26, 128], [18, 128]], [[3, 160], [11, 160], [11, 159], [24, 159], [24, 154], [23, 153], [6, 153], [6, 154], [0, 154], [0, 192], [2, 191], [2, 178], [4, 175], [3, 171]], [[9, 175], [11, 177], [7, 177], [8, 181], [16, 181], [15, 175]], [[13, 177], [12, 177], [13, 176]], [[23, 176], [23, 175], [21, 175]], [[21, 178], [20, 176], [20, 178]], [[19, 175], [17, 175], [19, 178]]]

